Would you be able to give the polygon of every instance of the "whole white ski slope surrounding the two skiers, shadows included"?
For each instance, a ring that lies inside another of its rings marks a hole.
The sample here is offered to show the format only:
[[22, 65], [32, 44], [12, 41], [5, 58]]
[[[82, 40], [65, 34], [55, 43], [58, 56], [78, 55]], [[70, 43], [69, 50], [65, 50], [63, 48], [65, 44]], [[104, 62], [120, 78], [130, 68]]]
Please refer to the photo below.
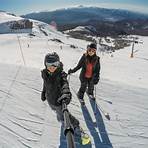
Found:
[[[66, 148], [63, 127], [47, 102], [40, 99], [40, 70], [44, 68], [44, 56], [56, 51], [67, 72], [77, 64], [88, 42], [45, 26], [42, 29], [47, 35], [44, 35], [38, 28], [35, 36], [28, 36], [28, 33], [0, 34], [2, 148]], [[76, 97], [80, 85], [79, 71], [69, 79], [73, 95], [69, 110], [90, 134], [91, 148], [147, 148], [148, 37], [139, 38], [143, 44], [135, 45], [134, 58], [130, 58], [131, 47], [112, 54], [101, 52], [98, 47], [101, 79], [96, 86], [96, 98], [109, 112], [110, 121], [100, 109], [94, 115], [94, 103], [86, 95], [86, 108], [81, 108]], [[78, 143], [76, 145], [81, 147]]]

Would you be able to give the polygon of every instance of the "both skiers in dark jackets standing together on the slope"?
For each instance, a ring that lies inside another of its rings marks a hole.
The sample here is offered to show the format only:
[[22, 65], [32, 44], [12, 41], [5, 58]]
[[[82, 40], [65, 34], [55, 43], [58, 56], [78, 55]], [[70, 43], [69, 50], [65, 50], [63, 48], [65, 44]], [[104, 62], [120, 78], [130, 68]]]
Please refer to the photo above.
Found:
[[[84, 102], [83, 97], [86, 91], [90, 98], [94, 98], [94, 85], [100, 79], [100, 58], [97, 56], [96, 50], [97, 45], [95, 43], [89, 44], [77, 66], [68, 70], [68, 74], [71, 74], [81, 69], [79, 77], [81, 86], [77, 93], [80, 102]], [[62, 101], [64, 100], [68, 105], [72, 99], [67, 73], [63, 71], [63, 63], [55, 52], [45, 56], [44, 65], [45, 68], [41, 71], [43, 78], [41, 99], [42, 101], [47, 100], [51, 109], [56, 112], [57, 120], [63, 122]], [[79, 121], [72, 114], [69, 117], [75, 133], [79, 134]]]

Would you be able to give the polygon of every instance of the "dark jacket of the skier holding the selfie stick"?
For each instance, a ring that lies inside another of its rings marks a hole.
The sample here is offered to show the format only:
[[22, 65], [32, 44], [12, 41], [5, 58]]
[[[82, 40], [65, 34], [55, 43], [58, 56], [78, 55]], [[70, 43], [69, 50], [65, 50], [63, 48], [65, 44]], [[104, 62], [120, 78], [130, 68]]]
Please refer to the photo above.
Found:
[[43, 78], [43, 91], [45, 98], [49, 104], [59, 106], [57, 100], [64, 94], [70, 94], [69, 102], [71, 100], [71, 92], [69, 89], [69, 84], [67, 81], [67, 74], [63, 71], [63, 66], [61, 65], [57, 70], [51, 75], [48, 73], [47, 69], [41, 71]]

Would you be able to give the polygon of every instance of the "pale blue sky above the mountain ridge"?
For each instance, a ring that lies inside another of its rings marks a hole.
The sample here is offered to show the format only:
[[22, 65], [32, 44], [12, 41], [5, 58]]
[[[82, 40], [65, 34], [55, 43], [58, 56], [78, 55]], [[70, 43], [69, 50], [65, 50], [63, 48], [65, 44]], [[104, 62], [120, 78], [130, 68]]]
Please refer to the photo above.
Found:
[[128, 9], [148, 14], [148, 0], [0, 0], [0, 10], [17, 15], [78, 5]]

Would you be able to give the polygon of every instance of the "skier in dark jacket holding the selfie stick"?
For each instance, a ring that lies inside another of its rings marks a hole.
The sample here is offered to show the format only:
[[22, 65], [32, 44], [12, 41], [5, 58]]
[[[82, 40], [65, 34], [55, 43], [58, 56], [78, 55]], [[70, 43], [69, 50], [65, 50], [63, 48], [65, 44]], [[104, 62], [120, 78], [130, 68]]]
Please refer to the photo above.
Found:
[[[45, 69], [41, 71], [43, 78], [42, 101], [47, 100], [49, 106], [57, 114], [57, 120], [63, 122], [62, 101], [68, 105], [72, 95], [67, 81], [67, 74], [63, 71], [63, 64], [60, 62], [57, 53], [49, 53], [45, 56]], [[70, 114], [70, 120], [74, 129], [79, 127], [79, 121]]]

